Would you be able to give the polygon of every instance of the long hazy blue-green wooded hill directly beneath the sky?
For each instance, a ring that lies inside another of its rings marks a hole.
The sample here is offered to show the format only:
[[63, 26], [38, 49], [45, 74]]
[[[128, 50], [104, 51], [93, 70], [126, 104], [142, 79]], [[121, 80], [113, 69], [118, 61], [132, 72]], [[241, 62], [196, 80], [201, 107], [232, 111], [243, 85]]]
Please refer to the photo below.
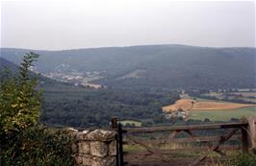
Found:
[[[19, 62], [23, 49], [1, 49], [1, 57]], [[63, 51], [35, 51], [39, 72], [97, 71], [94, 81], [117, 87], [256, 87], [255, 48], [145, 45]], [[63, 68], [62, 68], [63, 67]]]

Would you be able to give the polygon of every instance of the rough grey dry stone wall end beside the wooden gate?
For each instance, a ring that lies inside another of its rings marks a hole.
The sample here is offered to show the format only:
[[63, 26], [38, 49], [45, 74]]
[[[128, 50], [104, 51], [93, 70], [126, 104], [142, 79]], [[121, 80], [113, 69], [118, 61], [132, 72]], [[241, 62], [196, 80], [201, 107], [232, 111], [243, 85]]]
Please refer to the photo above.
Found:
[[75, 166], [115, 166], [116, 132], [114, 130], [83, 130], [72, 132], [71, 145]]

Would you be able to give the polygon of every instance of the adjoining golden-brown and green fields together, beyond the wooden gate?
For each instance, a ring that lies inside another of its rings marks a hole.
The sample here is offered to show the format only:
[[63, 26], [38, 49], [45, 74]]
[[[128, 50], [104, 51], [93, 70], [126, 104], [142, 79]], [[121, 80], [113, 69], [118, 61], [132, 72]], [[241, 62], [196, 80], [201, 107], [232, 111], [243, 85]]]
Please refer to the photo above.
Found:
[[212, 121], [230, 121], [231, 118], [242, 118], [256, 115], [256, 105], [246, 105], [228, 102], [207, 100], [181, 99], [175, 104], [163, 107], [165, 112], [175, 111], [178, 108], [189, 110], [188, 119]]

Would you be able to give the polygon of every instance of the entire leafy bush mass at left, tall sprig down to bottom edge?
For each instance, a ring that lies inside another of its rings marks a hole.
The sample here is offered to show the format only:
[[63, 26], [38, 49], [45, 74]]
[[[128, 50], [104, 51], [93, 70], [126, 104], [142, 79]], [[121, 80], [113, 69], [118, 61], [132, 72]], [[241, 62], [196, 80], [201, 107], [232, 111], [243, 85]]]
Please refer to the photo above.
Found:
[[19, 73], [5, 72], [1, 81], [1, 166], [72, 165], [69, 134], [38, 125], [41, 95], [38, 78], [29, 71], [37, 58], [35, 53], [26, 54]]

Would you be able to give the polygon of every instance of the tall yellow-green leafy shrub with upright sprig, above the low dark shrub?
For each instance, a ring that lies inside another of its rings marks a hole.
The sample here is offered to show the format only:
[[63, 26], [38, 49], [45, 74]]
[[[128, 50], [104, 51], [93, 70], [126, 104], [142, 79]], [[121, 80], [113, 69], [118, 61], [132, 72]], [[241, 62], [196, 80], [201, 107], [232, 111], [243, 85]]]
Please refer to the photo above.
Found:
[[38, 54], [26, 54], [18, 75], [5, 72], [0, 84], [0, 134], [13, 134], [38, 123], [41, 107], [38, 78], [29, 76], [29, 68], [36, 59]]

